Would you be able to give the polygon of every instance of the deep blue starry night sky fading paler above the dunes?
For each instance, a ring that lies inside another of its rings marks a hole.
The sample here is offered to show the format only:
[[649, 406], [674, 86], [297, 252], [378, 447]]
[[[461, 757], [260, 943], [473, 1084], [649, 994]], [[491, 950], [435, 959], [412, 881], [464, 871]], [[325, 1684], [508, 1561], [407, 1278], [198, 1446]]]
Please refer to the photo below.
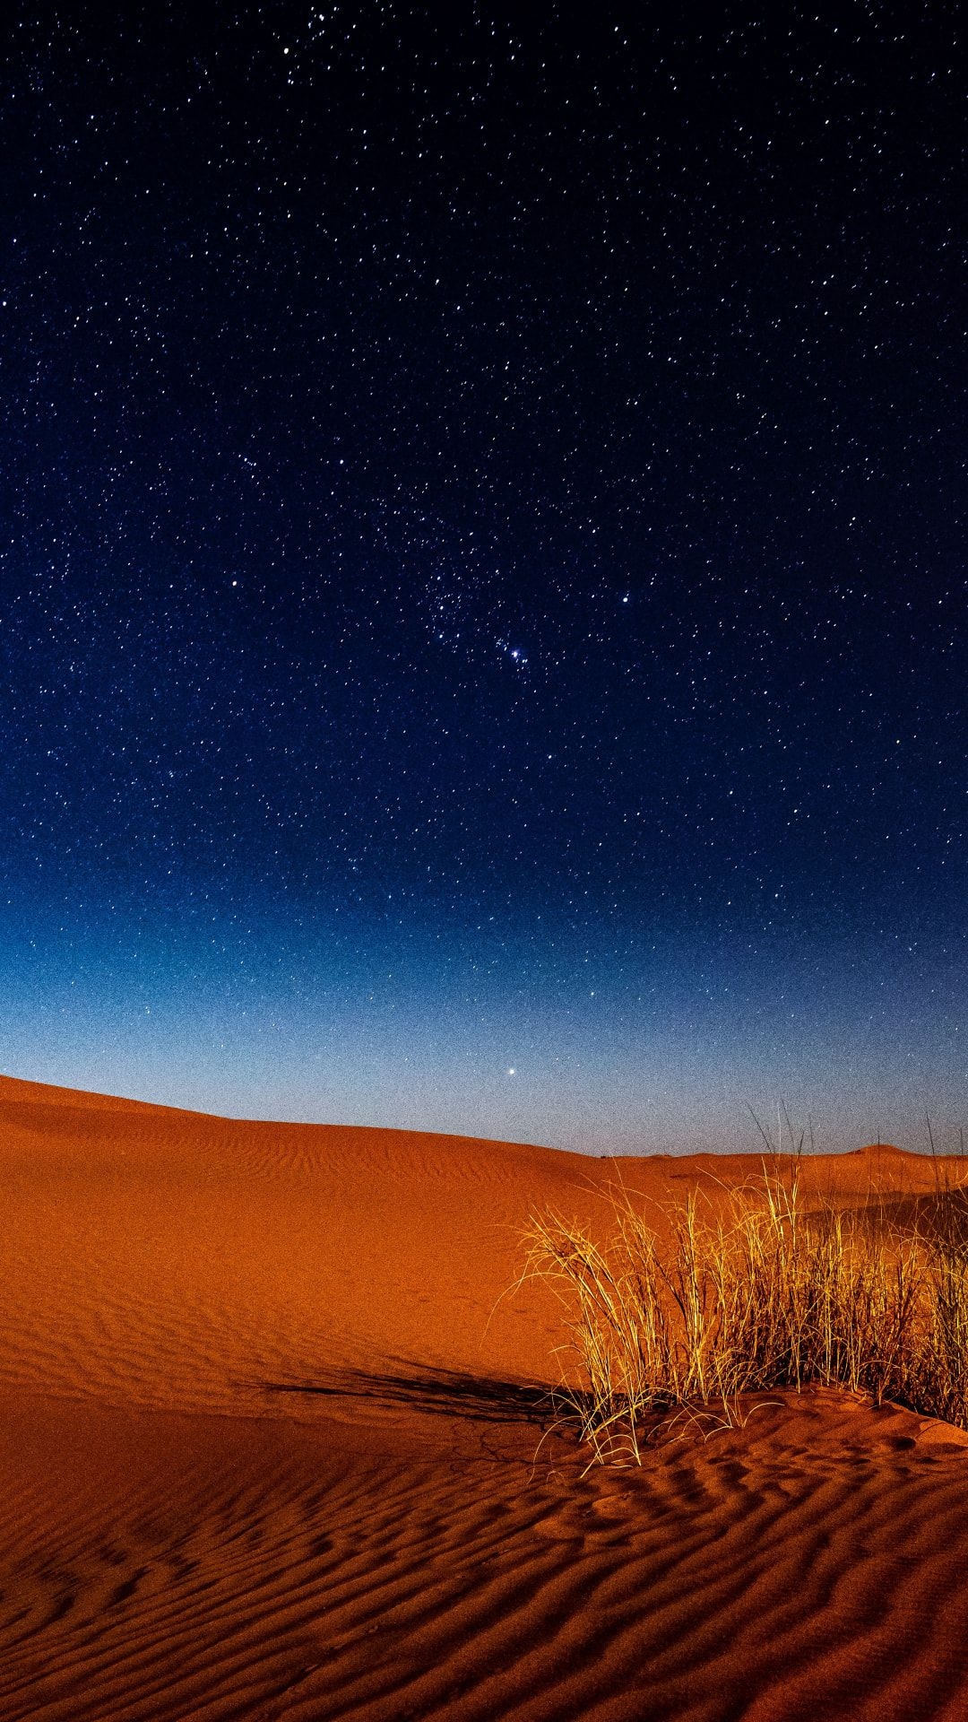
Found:
[[0, 1068], [952, 1140], [956, 9], [5, 19]]

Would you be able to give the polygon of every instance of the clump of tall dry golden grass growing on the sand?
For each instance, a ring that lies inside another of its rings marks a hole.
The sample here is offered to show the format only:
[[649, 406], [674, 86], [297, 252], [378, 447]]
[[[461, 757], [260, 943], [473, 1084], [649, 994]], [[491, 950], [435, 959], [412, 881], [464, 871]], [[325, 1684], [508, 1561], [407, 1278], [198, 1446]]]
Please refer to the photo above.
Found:
[[593, 1459], [637, 1462], [655, 1412], [732, 1419], [739, 1395], [810, 1383], [968, 1428], [968, 1190], [939, 1183], [930, 1224], [901, 1226], [877, 1200], [808, 1209], [794, 1159], [663, 1217], [618, 1190], [603, 1247], [553, 1212], [527, 1233], [525, 1273], [567, 1309], [582, 1386], [558, 1398]]

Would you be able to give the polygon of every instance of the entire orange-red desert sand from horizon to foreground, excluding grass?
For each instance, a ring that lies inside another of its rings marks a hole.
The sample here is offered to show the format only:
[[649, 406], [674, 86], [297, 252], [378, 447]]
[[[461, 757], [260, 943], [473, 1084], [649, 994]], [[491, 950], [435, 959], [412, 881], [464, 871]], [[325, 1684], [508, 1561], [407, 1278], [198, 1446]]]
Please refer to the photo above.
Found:
[[[968, 1717], [968, 1445], [834, 1391], [596, 1467], [529, 1211], [617, 1166], [0, 1078], [0, 1717]], [[622, 1161], [661, 1195], [749, 1157]], [[935, 1169], [816, 1155], [846, 1204]]]

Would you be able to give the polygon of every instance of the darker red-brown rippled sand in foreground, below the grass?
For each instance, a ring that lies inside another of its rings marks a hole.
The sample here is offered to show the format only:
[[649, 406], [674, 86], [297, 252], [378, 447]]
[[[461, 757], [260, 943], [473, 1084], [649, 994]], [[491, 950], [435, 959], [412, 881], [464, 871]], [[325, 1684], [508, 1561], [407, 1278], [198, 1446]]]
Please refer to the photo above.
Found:
[[0, 1713], [965, 1717], [968, 1460], [842, 1422], [787, 1407], [582, 1479], [21, 1402]]

